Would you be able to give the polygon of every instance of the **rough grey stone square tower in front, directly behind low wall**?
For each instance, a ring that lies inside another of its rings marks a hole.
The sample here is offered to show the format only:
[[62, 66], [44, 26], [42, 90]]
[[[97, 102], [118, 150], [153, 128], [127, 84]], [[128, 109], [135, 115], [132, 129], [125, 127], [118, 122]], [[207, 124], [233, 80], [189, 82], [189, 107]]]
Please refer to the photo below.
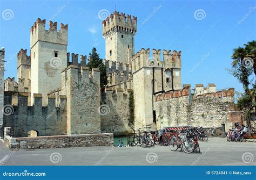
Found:
[[70, 65], [62, 72], [61, 94], [67, 97], [67, 133], [100, 133], [100, 71]]

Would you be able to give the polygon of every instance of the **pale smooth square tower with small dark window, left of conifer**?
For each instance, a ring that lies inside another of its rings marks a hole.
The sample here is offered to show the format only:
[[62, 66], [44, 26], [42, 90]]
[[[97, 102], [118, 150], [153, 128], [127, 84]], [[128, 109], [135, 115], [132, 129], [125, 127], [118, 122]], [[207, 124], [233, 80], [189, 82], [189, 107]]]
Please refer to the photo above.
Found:
[[[31, 99], [33, 93], [42, 93], [43, 105], [47, 93], [61, 85], [62, 70], [67, 66], [68, 25], [49, 22], [45, 30], [45, 19], [37, 19], [30, 30], [31, 50]], [[31, 100], [33, 104], [33, 100]]]

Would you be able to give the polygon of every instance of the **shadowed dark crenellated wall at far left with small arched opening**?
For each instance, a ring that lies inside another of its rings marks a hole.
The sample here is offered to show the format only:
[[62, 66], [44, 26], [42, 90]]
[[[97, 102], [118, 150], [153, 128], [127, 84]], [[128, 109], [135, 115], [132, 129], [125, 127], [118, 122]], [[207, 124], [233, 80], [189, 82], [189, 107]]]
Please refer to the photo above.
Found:
[[4, 92], [4, 127], [14, 128], [15, 137], [26, 137], [31, 130], [40, 136], [66, 134], [65, 96], [48, 95], [47, 106], [42, 106], [42, 95], [35, 94], [34, 105], [28, 106], [29, 93], [18, 92], [17, 105], [12, 105], [15, 93]]

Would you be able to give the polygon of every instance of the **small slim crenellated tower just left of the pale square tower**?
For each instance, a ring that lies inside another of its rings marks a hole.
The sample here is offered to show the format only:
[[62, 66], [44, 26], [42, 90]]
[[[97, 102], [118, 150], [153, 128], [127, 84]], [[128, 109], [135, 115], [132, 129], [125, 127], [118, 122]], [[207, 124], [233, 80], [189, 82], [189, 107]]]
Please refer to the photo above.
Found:
[[[30, 56], [26, 49], [21, 49], [17, 54], [17, 79], [19, 86], [30, 88]], [[22, 83], [22, 84], [21, 84]], [[29, 90], [28, 90], [29, 91]]]

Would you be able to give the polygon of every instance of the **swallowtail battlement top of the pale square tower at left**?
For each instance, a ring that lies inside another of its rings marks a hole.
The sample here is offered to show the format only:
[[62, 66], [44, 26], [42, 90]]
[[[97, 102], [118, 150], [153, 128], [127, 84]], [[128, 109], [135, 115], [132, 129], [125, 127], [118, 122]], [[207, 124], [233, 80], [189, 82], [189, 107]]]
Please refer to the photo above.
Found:
[[30, 28], [30, 47], [37, 41], [46, 41], [56, 44], [68, 45], [68, 24], [60, 24], [57, 32], [57, 22], [49, 21], [49, 30], [45, 29], [45, 19], [40, 18]]

